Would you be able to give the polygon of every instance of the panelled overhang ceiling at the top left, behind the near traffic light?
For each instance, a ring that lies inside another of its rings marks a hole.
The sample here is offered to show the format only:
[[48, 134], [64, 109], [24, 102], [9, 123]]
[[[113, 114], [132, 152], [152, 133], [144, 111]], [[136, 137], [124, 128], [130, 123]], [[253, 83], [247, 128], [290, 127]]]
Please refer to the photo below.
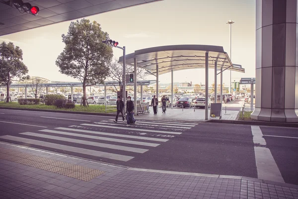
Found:
[[160, 0], [22, 0], [38, 6], [37, 15], [11, 7], [7, 1], [0, 0], [0, 36]]

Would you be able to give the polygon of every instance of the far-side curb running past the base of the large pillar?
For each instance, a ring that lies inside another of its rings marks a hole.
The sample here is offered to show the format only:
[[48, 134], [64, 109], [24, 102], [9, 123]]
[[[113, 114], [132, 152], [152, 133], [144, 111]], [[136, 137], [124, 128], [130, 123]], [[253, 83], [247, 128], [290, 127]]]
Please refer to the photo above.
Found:
[[226, 123], [226, 124], [245, 124], [245, 125], [257, 125], [257, 126], [282, 126], [282, 127], [294, 127], [298, 128], [298, 123], [279, 123], [279, 122], [267, 122], [267, 121], [241, 121], [241, 120], [215, 120], [210, 119], [205, 122], [210, 123]]

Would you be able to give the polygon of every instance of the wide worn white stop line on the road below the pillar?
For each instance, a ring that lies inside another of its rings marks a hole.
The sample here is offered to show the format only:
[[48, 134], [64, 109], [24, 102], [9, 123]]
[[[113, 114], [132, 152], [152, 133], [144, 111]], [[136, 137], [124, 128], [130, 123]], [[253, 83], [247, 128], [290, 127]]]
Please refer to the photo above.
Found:
[[270, 149], [264, 147], [266, 146], [266, 141], [263, 138], [260, 127], [251, 126], [251, 132], [253, 135], [253, 143], [263, 146], [254, 146], [258, 179], [285, 183]]

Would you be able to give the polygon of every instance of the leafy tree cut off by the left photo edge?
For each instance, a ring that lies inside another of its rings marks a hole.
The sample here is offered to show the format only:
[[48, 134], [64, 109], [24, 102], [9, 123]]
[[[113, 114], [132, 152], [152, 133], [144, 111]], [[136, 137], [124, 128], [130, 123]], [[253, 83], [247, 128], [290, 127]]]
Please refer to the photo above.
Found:
[[[4, 41], [0, 44], [0, 84], [7, 88], [7, 97], [9, 97], [9, 85], [12, 81], [23, 81], [28, 79], [27, 66], [23, 63], [23, 51], [14, 46], [12, 42], [6, 44]], [[9, 102], [9, 98], [6, 99]]]

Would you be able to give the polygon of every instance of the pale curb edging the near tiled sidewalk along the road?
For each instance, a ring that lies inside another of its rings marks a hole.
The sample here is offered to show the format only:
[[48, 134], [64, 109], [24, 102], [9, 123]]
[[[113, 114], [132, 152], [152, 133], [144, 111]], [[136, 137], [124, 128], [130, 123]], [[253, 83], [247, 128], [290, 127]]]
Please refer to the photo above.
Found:
[[81, 158], [81, 157], [72, 156], [72, 155], [66, 155], [66, 154], [62, 154], [62, 153], [47, 151], [47, 150], [28, 147], [28, 146], [22, 146], [22, 145], [18, 145], [18, 144], [6, 143], [6, 142], [2, 142], [2, 141], [0, 141], [0, 144], [12, 145], [12, 146], [19, 147], [19, 148], [25, 148], [25, 149], [29, 149], [29, 150], [34, 150], [34, 151], [39, 151], [39, 152], [43, 152], [43, 153], [58, 155], [58, 156], [62, 156], [62, 157], [69, 157], [69, 158], [73, 158], [73, 159], [77, 159], [77, 160], [79, 160], [79, 159], [86, 160], [86, 161], [89, 161], [89, 162], [99, 163], [99, 164], [102, 164], [102, 165], [105, 165], [105, 166], [126, 168], [129, 171], [150, 172], [150, 173], [160, 173], [160, 174], [173, 174], [173, 175], [185, 175], [185, 176], [199, 176], [199, 177], [206, 177], [206, 178], [246, 180], [246, 181], [252, 181], [252, 182], [257, 182], [257, 183], [265, 183], [265, 184], [270, 184], [270, 185], [277, 185], [277, 186], [281, 186], [281, 187], [288, 187], [288, 188], [298, 189], [298, 185], [294, 185], [294, 184], [280, 183], [280, 182], [274, 182], [274, 181], [262, 180], [262, 179], [257, 179], [257, 178], [244, 177], [244, 176], [229, 176], [229, 175], [218, 175], [218, 174], [203, 174], [203, 173], [189, 173], [189, 172], [177, 172], [177, 171], [166, 171], [166, 170], [140, 169], [140, 168], [133, 168], [133, 167], [127, 167], [127, 166], [122, 166], [122, 165], [106, 163], [106, 162], [102, 162], [102, 161], [90, 160], [90, 159], [86, 159], [86, 158]]

